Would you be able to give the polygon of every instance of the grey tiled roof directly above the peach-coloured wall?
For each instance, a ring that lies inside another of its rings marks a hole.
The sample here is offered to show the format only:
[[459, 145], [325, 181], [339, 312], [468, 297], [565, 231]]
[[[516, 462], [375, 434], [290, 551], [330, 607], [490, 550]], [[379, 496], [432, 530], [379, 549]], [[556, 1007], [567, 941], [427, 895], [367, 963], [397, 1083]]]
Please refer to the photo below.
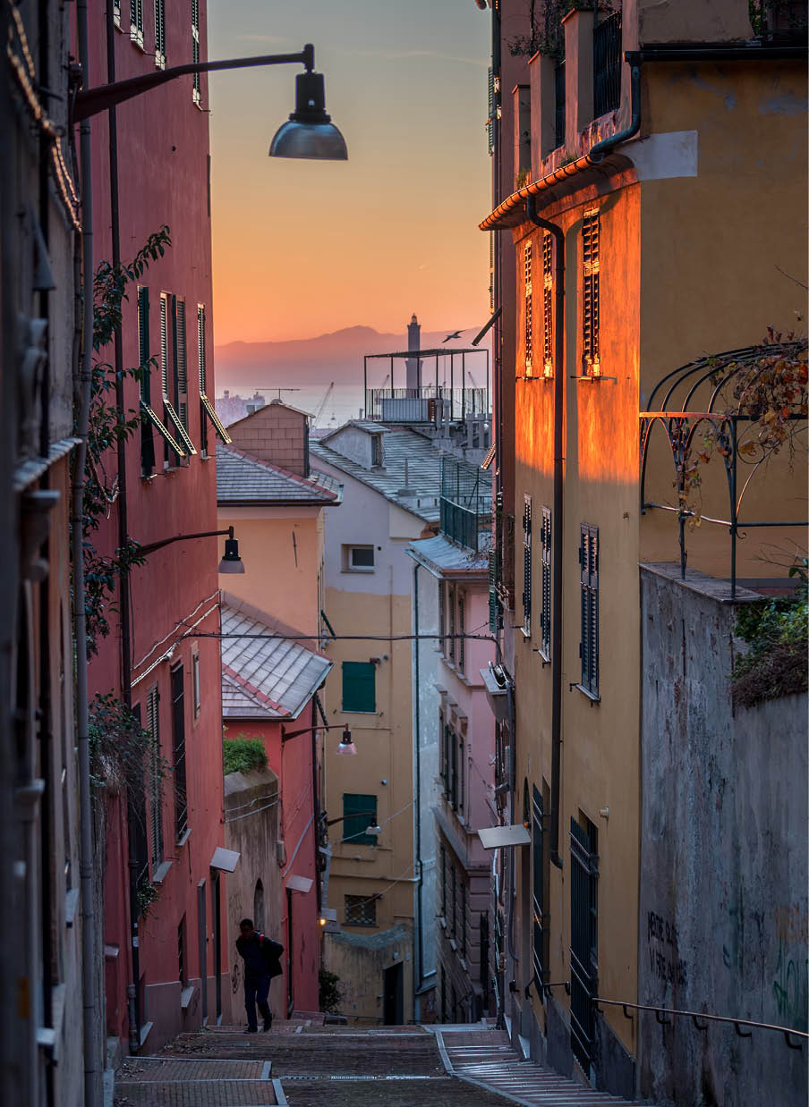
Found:
[[279, 469], [232, 446], [216, 446], [217, 504], [339, 504], [340, 487], [325, 473]]

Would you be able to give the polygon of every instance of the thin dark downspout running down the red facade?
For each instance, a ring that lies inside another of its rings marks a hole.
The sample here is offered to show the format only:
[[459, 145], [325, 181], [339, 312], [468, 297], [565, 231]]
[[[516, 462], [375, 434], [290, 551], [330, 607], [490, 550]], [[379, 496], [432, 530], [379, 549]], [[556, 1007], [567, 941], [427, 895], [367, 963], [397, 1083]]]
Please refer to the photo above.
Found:
[[[115, 15], [112, 4], [106, 8], [106, 79], [110, 84], [115, 81]], [[106, 113], [110, 127], [110, 221], [112, 225], [112, 263], [121, 263], [121, 225], [119, 216], [119, 175], [117, 175], [117, 116], [111, 107]], [[115, 408], [120, 421], [126, 417], [124, 405], [123, 377], [123, 337], [121, 324], [114, 333], [114, 369], [115, 369]], [[129, 542], [129, 523], [126, 517], [126, 439], [117, 441], [117, 545], [125, 549]], [[125, 568], [119, 573], [119, 618], [121, 621], [121, 697], [124, 707], [132, 707], [132, 656], [130, 627], [130, 575]], [[141, 979], [141, 955], [139, 941], [140, 909], [137, 906], [137, 855], [134, 831], [136, 815], [132, 798], [126, 792], [126, 845], [130, 884], [130, 982], [126, 985], [126, 1016], [129, 1022], [130, 1053], [135, 1054], [141, 1048], [141, 1011], [137, 981]]]

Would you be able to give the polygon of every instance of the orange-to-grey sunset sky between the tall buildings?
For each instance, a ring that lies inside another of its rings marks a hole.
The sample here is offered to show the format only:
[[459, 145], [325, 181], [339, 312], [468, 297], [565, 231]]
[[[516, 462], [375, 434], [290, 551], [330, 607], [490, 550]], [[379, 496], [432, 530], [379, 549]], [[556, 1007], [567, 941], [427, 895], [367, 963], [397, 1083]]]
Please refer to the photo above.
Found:
[[348, 162], [267, 157], [285, 65], [209, 79], [215, 341], [363, 323], [482, 324], [489, 309], [489, 12], [473, 0], [208, 0], [212, 59], [314, 42]]

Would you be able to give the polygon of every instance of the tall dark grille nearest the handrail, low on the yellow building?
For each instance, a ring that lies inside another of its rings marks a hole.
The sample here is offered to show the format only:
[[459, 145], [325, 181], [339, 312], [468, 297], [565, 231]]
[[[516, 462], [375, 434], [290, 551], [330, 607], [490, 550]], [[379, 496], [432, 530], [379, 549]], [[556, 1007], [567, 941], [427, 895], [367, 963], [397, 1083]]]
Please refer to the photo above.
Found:
[[571, 1046], [585, 1073], [593, 1059], [598, 994], [598, 832], [571, 819]]

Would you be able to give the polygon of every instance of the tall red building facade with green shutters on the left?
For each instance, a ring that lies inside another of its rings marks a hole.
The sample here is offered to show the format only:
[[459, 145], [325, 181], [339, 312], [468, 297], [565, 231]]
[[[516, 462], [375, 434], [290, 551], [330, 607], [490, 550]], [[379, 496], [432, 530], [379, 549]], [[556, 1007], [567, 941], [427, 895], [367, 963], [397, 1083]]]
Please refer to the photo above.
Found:
[[[204, 60], [204, 4], [122, 0], [107, 15], [91, 0], [90, 44], [92, 86]], [[217, 529], [206, 107], [206, 77], [187, 76], [92, 120], [96, 259], [127, 262], [161, 228], [171, 237], [129, 286], [120, 348], [101, 353], [124, 371], [154, 359], [119, 395], [144, 422], [107, 455], [105, 556], [127, 539]], [[229, 1020], [224, 877], [212, 867], [224, 845], [219, 546], [175, 540], [135, 565], [90, 666], [91, 696], [130, 703], [154, 742], [141, 793], [107, 805], [99, 861], [107, 1033], [131, 1051]]]

